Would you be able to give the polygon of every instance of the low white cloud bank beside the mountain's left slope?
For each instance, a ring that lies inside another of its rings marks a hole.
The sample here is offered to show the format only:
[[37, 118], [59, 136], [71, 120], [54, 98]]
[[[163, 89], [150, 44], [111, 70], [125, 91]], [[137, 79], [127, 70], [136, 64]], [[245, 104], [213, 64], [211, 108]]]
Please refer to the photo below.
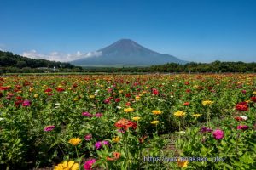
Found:
[[30, 51], [23, 52], [22, 56], [32, 58], [32, 59], [48, 59], [48, 60], [55, 60], [55, 61], [72, 61], [75, 59], [82, 59], [82, 58], [90, 58], [90, 57], [98, 57], [102, 55], [102, 51], [95, 51], [89, 53], [81, 53], [77, 51], [75, 54], [64, 54], [60, 52], [50, 52], [49, 54], [40, 54], [35, 49]]

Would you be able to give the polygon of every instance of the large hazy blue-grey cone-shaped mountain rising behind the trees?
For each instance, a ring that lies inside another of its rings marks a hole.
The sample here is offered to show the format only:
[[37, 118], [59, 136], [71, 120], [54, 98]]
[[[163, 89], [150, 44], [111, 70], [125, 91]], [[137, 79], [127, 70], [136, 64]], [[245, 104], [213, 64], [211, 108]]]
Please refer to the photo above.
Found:
[[76, 59], [73, 65], [160, 65], [166, 63], [185, 64], [169, 54], [160, 54], [144, 48], [131, 39], [120, 39], [106, 48], [96, 51], [96, 56]]

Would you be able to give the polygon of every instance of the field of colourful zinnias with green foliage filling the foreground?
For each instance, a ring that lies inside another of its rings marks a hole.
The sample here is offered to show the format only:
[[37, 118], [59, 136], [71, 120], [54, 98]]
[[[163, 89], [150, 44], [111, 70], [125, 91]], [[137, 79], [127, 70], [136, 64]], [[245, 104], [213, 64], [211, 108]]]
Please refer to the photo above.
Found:
[[256, 75], [0, 78], [0, 169], [256, 169]]

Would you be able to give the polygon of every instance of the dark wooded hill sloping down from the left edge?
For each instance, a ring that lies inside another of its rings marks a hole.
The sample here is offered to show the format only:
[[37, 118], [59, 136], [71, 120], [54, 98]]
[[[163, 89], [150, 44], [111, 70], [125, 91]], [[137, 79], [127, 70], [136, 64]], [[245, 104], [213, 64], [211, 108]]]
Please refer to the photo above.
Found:
[[45, 71], [83, 71], [83, 69], [70, 63], [49, 61], [46, 59], [30, 59], [10, 52], [0, 51], [0, 73]]

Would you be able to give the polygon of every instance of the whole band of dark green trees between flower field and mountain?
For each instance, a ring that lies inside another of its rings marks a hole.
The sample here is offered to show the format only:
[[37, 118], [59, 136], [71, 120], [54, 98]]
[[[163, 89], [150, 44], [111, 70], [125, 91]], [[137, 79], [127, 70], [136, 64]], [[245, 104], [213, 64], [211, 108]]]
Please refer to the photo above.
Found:
[[0, 51], [0, 74], [3, 73], [45, 73], [45, 72], [190, 72], [190, 73], [211, 73], [211, 72], [256, 72], [256, 63], [244, 62], [221, 62], [195, 63], [185, 65], [167, 63], [165, 65], [152, 65], [148, 67], [123, 67], [123, 68], [82, 68], [45, 59], [30, 59], [10, 52]]

